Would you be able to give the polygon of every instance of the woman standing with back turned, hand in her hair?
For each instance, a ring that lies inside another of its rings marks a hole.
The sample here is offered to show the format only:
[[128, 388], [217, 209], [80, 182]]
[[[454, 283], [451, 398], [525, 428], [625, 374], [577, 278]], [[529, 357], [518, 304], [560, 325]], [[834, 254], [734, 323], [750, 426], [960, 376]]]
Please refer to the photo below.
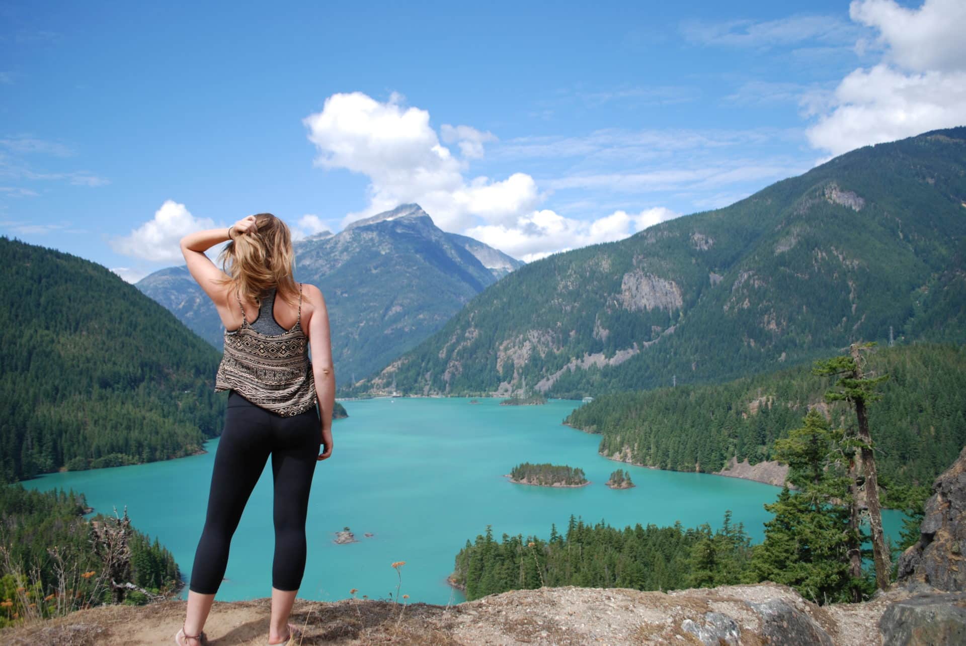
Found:
[[[218, 256], [222, 270], [205, 250], [225, 240], [230, 241]], [[297, 631], [288, 620], [305, 570], [312, 476], [316, 463], [332, 455], [335, 374], [326, 300], [319, 288], [293, 279], [289, 228], [271, 213], [190, 234], [181, 248], [188, 271], [225, 325], [214, 389], [229, 395], [185, 624], [175, 642], [204, 643], [202, 628], [225, 574], [232, 535], [271, 456], [275, 552], [269, 644], [288, 643]]]

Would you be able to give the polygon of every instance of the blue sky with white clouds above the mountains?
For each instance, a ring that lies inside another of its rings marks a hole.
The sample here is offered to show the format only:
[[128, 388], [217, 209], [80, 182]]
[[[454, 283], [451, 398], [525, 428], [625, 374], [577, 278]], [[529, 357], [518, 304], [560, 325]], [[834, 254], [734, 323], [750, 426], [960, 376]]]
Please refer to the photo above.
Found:
[[966, 124], [961, 0], [0, 4], [0, 235], [136, 280], [401, 202], [526, 260]]

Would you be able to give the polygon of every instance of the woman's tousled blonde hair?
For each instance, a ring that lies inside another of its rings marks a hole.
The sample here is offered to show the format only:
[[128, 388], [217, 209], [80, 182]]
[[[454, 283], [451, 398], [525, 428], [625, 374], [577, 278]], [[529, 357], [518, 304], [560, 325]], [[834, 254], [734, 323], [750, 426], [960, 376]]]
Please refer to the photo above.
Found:
[[290, 304], [298, 298], [294, 277], [295, 253], [288, 225], [271, 213], [255, 215], [255, 231], [241, 234], [226, 244], [217, 260], [228, 278], [218, 283], [232, 286], [240, 297], [262, 306], [262, 294], [274, 287], [276, 295]]

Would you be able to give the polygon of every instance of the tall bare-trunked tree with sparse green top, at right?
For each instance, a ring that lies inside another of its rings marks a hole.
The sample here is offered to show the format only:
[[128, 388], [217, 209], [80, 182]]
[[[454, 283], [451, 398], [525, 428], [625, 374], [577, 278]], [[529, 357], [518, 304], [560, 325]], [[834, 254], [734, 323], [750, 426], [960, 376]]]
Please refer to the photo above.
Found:
[[[868, 508], [869, 534], [872, 540], [872, 559], [875, 562], [875, 584], [880, 589], [885, 590], [889, 587], [889, 577], [891, 574], [891, 556], [886, 546], [886, 536], [882, 531], [882, 507], [879, 504], [879, 483], [875, 468], [875, 453], [873, 452], [872, 434], [868, 429], [867, 407], [872, 402], [882, 398], [878, 386], [880, 383], [889, 379], [888, 375], [879, 377], [867, 373], [864, 364], [864, 352], [870, 351], [875, 343], [859, 344], [853, 343], [849, 346], [848, 353], [840, 356], [818, 361], [815, 363], [813, 373], [815, 375], [827, 375], [838, 377], [835, 387], [825, 393], [828, 402], [848, 402], [855, 407], [855, 415], [859, 423], [858, 441], [861, 460], [861, 475], [859, 469], [854, 469], [852, 488], [853, 494], [858, 494], [863, 490], [866, 494], [866, 506]], [[853, 495], [855, 507], [852, 510], [853, 520], [858, 519], [858, 500], [857, 495]], [[858, 527], [856, 527], [858, 529]], [[861, 556], [852, 556], [853, 570], [858, 560], [859, 572], [861, 574]]]

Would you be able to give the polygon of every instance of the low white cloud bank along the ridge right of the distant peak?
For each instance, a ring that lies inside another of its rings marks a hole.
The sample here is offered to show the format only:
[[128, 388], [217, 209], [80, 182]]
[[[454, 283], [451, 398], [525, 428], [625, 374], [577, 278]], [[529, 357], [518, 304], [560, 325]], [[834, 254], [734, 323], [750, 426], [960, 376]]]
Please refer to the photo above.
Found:
[[467, 235], [529, 263], [558, 251], [625, 239], [678, 215], [664, 207], [657, 207], [639, 213], [614, 211], [596, 220], [585, 221], [545, 209], [522, 215], [512, 224], [473, 227], [467, 231]]

